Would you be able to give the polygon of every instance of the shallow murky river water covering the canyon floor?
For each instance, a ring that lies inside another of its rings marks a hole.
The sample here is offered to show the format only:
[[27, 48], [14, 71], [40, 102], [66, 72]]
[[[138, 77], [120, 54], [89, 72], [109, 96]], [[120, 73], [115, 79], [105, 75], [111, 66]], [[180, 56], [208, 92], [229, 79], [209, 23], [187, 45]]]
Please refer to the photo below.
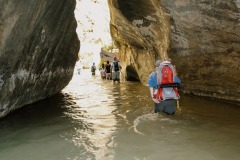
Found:
[[58, 95], [0, 119], [0, 160], [239, 160], [240, 106], [181, 95], [153, 113], [146, 86], [74, 75]]

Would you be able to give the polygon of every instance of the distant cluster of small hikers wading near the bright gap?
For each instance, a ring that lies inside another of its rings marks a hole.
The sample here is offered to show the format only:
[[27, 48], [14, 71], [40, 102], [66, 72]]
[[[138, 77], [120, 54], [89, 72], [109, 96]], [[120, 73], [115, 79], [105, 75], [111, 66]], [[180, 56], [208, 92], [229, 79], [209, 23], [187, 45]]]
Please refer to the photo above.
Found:
[[[102, 63], [102, 65], [99, 68], [99, 71], [102, 79], [113, 80], [113, 82], [115, 81], [120, 82], [121, 69], [122, 67], [120, 65], [120, 62], [117, 61], [117, 57], [113, 57], [113, 62], [110, 64], [110, 62], [107, 61], [106, 65]], [[91, 66], [91, 72], [92, 75], [96, 74], [95, 63], [93, 63], [93, 65]]]

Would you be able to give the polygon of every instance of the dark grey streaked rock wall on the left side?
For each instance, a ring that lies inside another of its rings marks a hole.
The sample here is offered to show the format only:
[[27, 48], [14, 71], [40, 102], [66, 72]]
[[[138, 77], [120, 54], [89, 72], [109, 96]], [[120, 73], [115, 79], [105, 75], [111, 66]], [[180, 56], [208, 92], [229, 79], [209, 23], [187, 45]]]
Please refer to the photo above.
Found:
[[0, 117], [71, 80], [80, 45], [75, 3], [0, 1]]

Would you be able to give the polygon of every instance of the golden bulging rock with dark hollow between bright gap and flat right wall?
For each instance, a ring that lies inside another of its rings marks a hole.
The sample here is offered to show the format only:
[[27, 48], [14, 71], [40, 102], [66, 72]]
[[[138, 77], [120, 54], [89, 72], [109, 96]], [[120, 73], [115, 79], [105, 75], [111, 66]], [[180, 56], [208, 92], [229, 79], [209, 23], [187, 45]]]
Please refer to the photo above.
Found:
[[158, 0], [109, 0], [109, 8], [123, 70], [135, 70], [146, 83], [155, 60], [167, 57], [169, 17]]

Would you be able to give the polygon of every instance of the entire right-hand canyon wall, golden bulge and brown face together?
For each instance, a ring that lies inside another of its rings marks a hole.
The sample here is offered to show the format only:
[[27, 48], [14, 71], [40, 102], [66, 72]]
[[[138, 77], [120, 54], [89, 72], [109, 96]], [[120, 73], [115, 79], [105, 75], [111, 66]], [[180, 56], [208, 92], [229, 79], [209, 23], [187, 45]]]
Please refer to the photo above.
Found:
[[121, 63], [142, 83], [147, 83], [156, 59], [171, 58], [183, 91], [240, 102], [237, 0], [108, 2]]

